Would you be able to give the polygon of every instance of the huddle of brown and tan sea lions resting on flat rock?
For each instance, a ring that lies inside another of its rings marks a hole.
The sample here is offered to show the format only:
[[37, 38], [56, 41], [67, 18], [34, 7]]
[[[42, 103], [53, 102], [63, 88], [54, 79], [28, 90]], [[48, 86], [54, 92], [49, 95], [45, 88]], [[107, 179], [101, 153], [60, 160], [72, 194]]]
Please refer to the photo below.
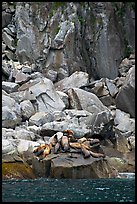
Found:
[[75, 149], [81, 152], [84, 158], [105, 157], [103, 151], [100, 152], [100, 140], [82, 137], [76, 139], [72, 130], [57, 132], [49, 139], [49, 144], [41, 144], [34, 151], [34, 155], [40, 160], [44, 159], [50, 153], [67, 152]]

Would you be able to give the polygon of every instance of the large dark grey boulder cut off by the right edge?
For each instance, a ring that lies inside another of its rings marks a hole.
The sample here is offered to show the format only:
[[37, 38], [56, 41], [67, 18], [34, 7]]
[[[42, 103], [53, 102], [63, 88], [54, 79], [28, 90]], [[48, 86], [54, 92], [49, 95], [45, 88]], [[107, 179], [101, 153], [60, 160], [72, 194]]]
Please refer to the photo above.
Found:
[[135, 117], [135, 66], [131, 67], [115, 99], [118, 109]]

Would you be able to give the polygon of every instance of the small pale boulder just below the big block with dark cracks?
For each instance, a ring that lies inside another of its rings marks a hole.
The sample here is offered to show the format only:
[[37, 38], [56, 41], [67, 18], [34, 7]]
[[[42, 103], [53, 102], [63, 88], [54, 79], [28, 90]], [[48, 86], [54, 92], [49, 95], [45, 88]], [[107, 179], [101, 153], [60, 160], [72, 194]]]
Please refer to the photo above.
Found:
[[42, 126], [43, 124], [45, 124], [47, 122], [51, 122], [51, 121], [53, 121], [53, 116], [50, 113], [37, 112], [30, 117], [29, 124]]

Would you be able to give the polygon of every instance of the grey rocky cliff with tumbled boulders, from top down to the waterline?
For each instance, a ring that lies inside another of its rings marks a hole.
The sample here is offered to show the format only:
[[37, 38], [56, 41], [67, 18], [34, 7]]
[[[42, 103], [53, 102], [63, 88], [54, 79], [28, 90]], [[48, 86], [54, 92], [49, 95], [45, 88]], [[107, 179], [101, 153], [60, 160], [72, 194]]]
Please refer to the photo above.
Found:
[[[105, 159], [33, 158], [66, 129], [97, 137]], [[19, 156], [38, 176], [115, 177], [134, 172], [134, 149], [134, 2], [3, 2], [3, 162]]]

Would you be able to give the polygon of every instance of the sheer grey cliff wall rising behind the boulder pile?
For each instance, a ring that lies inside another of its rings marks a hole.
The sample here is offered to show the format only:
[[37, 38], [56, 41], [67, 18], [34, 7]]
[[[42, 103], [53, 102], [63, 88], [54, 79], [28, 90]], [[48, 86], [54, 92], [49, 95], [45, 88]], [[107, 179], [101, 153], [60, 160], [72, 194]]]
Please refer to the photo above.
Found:
[[[75, 71], [114, 79], [124, 54], [134, 52], [134, 34], [130, 36], [135, 32], [132, 4], [17, 2], [14, 13], [17, 59], [36, 63], [45, 76], [55, 71], [57, 80]], [[10, 18], [11, 14], [3, 11], [3, 27]]]

